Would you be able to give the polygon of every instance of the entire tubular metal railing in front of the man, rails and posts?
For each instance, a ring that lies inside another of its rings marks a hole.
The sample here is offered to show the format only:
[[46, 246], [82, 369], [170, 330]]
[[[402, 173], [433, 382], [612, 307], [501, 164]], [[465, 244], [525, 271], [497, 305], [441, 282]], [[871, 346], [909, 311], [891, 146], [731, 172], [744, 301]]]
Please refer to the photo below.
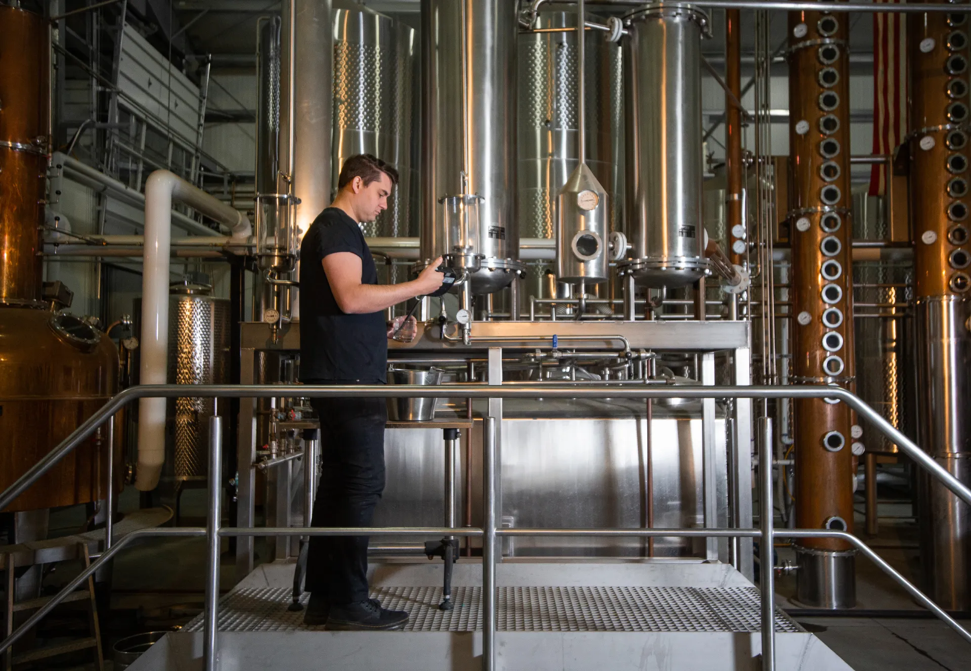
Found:
[[[68, 438], [39, 461], [17, 482], [0, 494], [0, 511], [6, 508], [27, 487], [33, 485], [66, 454], [78, 447], [105, 421], [127, 403], [142, 397], [176, 398], [192, 397], [274, 397], [292, 396], [292, 385], [158, 385], [133, 386], [121, 391], [108, 401], [89, 419], [78, 427]], [[441, 393], [441, 389], [428, 386], [300, 386], [299, 394], [306, 398], [320, 397], [358, 397], [358, 398], [430, 398]], [[453, 385], [450, 393], [465, 398], [577, 398], [603, 395], [602, 387], [583, 388], [581, 386], [544, 385], [519, 386], [483, 384]], [[894, 442], [915, 462], [933, 477], [951, 489], [961, 500], [971, 504], [971, 489], [957, 481], [954, 476], [939, 466], [932, 458], [899, 430], [887, 422], [877, 411], [846, 389], [831, 386], [617, 386], [611, 389], [615, 398], [836, 398], [854, 408], [859, 417], [870, 421]], [[148, 537], [202, 537], [208, 543], [206, 606], [204, 622], [204, 649], [206, 669], [215, 671], [218, 666], [218, 585], [219, 585], [219, 542], [232, 536], [427, 536], [450, 535], [483, 538], [483, 668], [495, 668], [495, 566], [497, 563], [496, 542], [504, 536], [681, 536], [694, 538], [753, 538], [761, 544], [761, 667], [764, 671], [775, 669], [775, 593], [773, 562], [773, 541], [775, 538], [837, 538], [852, 545], [860, 553], [874, 561], [897, 584], [907, 590], [925, 608], [938, 618], [947, 622], [966, 641], [971, 643], [971, 632], [961, 626], [943, 609], [929, 599], [920, 589], [911, 584], [894, 570], [880, 555], [876, 554], [859, 538], [845, 531], [828, 529], [784, 529], [774, 528], [774, 509], [772, 501], [772, 469], [762, 467], [760, 475], [760, 528], [496, 528], [497, 474], [500, 464], [496, 453], [496, 436], [501, 418], [485, 417], [483, 421], [483, 528], [475, 527], [221, 527], [221, 470], [222, 470], [222, 419], [215, 415], [210, 419], [210, 478], [209, 514], [207, 526], [190, 528], [141, 529], [117, 539], [114, 544], [106, 543], [105, 552], [84, 569], [77, 577], [63, 587], [44, 607], [37, 610], [24, 621], [3, 643], [0, 653], [12, 646], [28, 629], [44, 618], [67, 594], [79, 587], [82, 582], [107, 561], [133, 541]], [[109, 427], [111, 434], [112, 426]], [[772, 424], [769, 418], [759, 419], [758, 456], [760, 464], [772, 463]]]

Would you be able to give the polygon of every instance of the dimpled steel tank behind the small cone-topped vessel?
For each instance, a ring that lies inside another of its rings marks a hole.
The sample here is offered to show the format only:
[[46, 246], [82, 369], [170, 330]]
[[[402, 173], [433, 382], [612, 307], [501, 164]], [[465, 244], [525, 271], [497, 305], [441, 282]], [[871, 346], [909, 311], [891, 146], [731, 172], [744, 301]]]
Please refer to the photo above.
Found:
[[[536, 23], [540, 29], [576, 25], [573, 11], [543, 11]], [[609, 230], [615, 230], [623, 202], [619, 44], [587, 31], [585, 60], [586, 165], [606, 189]], [[519, 232], [552, 239], [556, 194], [577, 167], [577, 33], [520, 33], [518, 61]]]

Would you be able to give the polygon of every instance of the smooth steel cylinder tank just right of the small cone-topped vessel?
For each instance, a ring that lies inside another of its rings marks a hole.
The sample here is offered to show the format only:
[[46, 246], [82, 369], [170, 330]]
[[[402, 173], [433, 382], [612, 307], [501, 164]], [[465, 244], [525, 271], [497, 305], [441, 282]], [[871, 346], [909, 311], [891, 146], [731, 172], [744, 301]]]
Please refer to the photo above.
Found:
[[619, 269], [638, 285], [684, 286], [703, 255], [701, 38], [704, 13], [655, 3], [624, 18], [626, 233], [632, 259]]

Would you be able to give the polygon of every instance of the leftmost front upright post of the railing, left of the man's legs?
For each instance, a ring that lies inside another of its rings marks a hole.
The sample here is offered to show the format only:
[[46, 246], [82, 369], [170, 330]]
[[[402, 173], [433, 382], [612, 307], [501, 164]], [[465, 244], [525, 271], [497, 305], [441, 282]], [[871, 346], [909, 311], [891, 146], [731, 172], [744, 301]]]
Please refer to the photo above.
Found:
[[[218, 401], [217, 401], [218, 405]], [[209, 520], [206, 523], [206, 543], [209, 561], [206, 564], [206, 671], [218, 668], [218, 601], [219, 601], [219, 523], [222, 501], [222, 418], [209, 418]]]

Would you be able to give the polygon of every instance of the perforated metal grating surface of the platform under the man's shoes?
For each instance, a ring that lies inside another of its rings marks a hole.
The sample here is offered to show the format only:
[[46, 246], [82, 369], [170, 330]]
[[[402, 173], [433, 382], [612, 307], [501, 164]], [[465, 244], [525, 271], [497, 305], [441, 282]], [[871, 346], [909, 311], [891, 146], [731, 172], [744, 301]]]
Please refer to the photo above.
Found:
[[[303, 611], [290, 612], [286, 588], [238, 589], [219, 604], [220, 631], [308, 629]], [[438, 610], [441, 587], [377, 587], [385, 608], [406, 610], [405, 631], [482, 628], [482, 588], [453, 587], [454, 609]], [[308, 595], [301, 603], [306, 605]], [[754, 587], [499, 587], [500, 631], [731, 631], [759, 630]], [[201, 631], [202, 617], [184, 631]], [[776, 631], [801, 632], [776, 610]]]

